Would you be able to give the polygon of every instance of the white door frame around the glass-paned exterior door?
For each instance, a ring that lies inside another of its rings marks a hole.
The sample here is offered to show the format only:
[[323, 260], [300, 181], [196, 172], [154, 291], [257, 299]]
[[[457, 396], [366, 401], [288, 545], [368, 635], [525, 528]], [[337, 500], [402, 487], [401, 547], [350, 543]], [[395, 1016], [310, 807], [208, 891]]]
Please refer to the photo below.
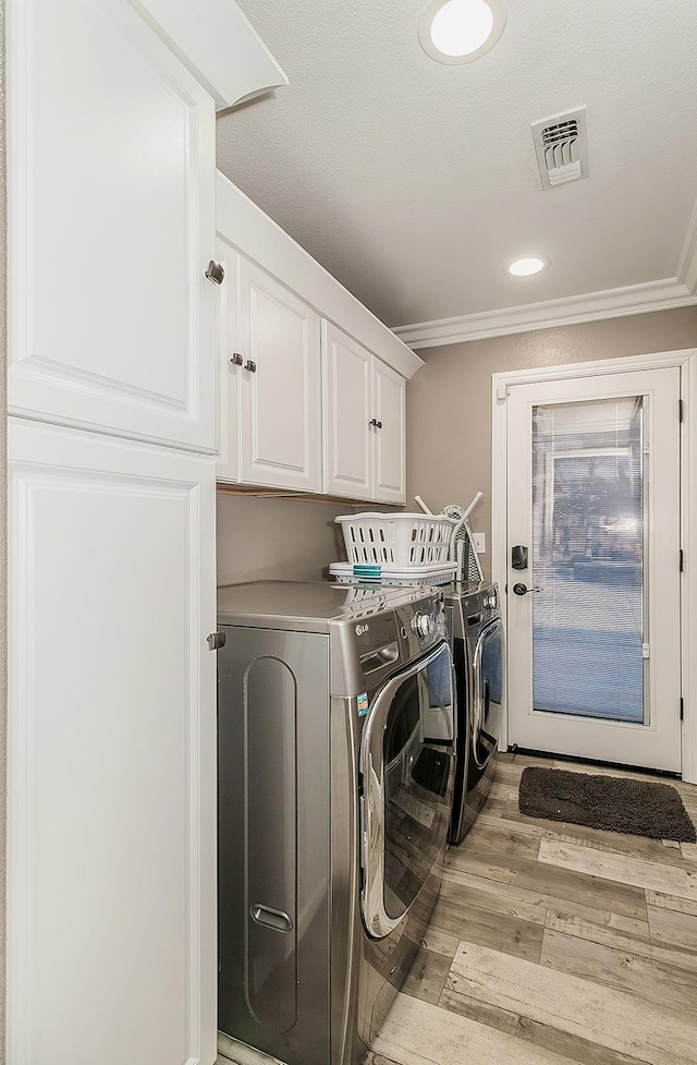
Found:
[[[506, 489], [506, 406], [509, 388], [537, 382], [601, 374], [632, 373], [680, 366], [683, 402], [681, 434], [681, 544], [684, 572], [681, 588], [682, 691], [684, 700], [682, 769], [683, 779], [697, 784], [697, 664], [690, 665], [689, 648], [697, 645], [697, 348], [663, 351], [624, 359], [568, 363], [535, 370], [506, 371], [491, 375], [491, 577], [503, 590], [508, 579], [508, 489]], [[501, 610], [506, 621], [506, 596]], [[509, 743], [508, 701], [499, 746]]]

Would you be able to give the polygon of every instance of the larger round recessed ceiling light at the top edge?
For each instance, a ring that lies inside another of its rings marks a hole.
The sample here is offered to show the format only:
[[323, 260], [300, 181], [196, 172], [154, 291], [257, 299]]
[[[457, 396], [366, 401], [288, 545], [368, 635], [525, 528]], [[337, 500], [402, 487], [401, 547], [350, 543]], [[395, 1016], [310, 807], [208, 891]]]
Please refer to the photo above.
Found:
[[472, 63], [493, 48], [504, 26], [503, 0], [431, 0], [418, 39], [439, 63]]

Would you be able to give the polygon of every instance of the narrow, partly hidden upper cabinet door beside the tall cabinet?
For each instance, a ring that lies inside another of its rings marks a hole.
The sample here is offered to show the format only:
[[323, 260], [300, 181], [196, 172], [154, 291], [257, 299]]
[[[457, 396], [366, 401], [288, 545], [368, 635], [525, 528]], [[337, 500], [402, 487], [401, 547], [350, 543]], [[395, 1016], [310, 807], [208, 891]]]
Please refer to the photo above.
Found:
[[225, 271], [220, 287], [220, 302], [216, 315], [217, 360], [217, 450], [216, 479], [240, 480], [240, 378], [242, 355], [240, 346], [240, 263], [239, 255], [228, 241], [216, 240], [216, 259]]

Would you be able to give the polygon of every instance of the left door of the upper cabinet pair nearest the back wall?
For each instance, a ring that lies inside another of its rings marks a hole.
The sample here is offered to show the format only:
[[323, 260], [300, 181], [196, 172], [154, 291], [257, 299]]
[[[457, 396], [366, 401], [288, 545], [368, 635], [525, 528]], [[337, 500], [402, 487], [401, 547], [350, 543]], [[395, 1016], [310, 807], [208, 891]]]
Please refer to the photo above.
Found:
[[322, 368], [325, 492], [370, 499], [372, 355], [331, 322], [323, 322]]

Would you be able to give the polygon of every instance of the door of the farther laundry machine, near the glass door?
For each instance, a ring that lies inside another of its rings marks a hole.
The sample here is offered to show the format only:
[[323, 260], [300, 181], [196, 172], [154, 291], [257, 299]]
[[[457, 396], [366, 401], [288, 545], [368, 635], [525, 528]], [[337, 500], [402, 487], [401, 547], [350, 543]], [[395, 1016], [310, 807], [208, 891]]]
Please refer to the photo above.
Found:
[[482, 769], [499, 742], [503, 712], [503, 622], [501, 618], [482, 628], [472, 665], [472, 746], [470, 757]]

